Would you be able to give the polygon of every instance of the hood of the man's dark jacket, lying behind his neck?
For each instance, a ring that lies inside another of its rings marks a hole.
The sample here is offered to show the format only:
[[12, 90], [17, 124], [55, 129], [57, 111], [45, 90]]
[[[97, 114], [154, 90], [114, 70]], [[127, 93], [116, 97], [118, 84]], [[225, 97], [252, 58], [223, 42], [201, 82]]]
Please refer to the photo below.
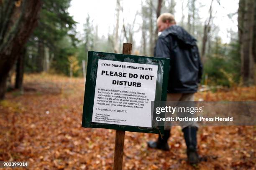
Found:
[[187, 44], [187, 45], [196, 45], [196, 39], [195, 37], [193, 37], [192, 35], [190, 35], [186, 30], [184, 30], [184, 28], [182, 28], [181, 26], [178, 25], [172, 25], [169, 28], [167, 28], [166, 30], [164, 30], [161, 33], [161, 36], [166, 37], [167, 35], [172, 34], [174, 36], [176, 36], [180, 41], [182, 41], [183, 43]]

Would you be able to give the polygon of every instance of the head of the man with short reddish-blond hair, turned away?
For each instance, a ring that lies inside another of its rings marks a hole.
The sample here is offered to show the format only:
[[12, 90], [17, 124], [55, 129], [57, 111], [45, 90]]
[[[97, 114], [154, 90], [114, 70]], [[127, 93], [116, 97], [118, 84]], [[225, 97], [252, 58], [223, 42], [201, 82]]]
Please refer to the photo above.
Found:
[[174, 19], [174, 16], [170, 13], [163, 13], [157, 18], [157, 28], [159, 32], [175, 24], [176, 21]]

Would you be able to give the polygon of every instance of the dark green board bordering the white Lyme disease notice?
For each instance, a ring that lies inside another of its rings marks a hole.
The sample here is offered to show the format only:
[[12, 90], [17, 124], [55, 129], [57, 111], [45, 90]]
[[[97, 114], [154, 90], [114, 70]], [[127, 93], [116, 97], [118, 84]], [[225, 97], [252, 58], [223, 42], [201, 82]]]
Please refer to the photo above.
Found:
[[[108, 52], [89, 51], [86, 84], [85, 84], [85, 91], [84, 91], [82, 127], [105, 128], [105, 129], [123, 130], [123, 131], [140, 132], [140, 133], [161, 133], [162, 134], [164, 131], [164, 126], [162, 125], [160, 126], [159, 125], [160, 122], [153, 121], [153, 120], [156, 120], [156, 114], [153, 114], [152, 112], [151, 112], [152, 128], [92, 122], [92, 112], [93, 112], [93, 105], [94, 105], [95, 85], [96, 85], [96, 79], [97, 79], [97, 68], [98, 68], [99, 59], [158, 65], [155, 101], [166, 101], [167, 83], [168, 83], [168, 75], [169, 75], [169, 62], [170, 62], [169, 59], [159, 58], [159, 57], [144, 57], [144, 56], [138, 56], [138, 55], [124, 55], [124, 54], [115, 54], [115, 53], [108, 53]], [[151, 102], [151, 105], [153, 103], [154, 102]], [[151, 107], [155, 108], [156, 106], [151, 106]], [[164, 113], [157, 116], [165, 117]]]

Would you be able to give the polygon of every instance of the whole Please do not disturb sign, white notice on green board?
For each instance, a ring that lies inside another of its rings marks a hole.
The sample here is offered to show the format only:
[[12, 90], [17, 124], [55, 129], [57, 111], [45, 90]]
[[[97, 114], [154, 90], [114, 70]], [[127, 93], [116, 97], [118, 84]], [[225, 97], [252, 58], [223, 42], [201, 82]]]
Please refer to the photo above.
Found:
[[82, 126], [159, 133], [151, 101], [166, 100], [168, 71], [169, 59], [88, 52]]

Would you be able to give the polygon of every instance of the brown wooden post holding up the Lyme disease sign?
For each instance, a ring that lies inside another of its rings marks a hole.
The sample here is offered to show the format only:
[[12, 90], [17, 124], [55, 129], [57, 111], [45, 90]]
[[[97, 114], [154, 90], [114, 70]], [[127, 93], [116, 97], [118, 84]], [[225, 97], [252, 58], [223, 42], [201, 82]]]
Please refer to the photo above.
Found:
[[[123, 43], [123, 54], [131, 55], [132, 44]], [[114, 170], [122, 170], [123, 168], [123, 145], [125, 131], [116, 130], [115, 133], [115, 153], [114, 153]]]

